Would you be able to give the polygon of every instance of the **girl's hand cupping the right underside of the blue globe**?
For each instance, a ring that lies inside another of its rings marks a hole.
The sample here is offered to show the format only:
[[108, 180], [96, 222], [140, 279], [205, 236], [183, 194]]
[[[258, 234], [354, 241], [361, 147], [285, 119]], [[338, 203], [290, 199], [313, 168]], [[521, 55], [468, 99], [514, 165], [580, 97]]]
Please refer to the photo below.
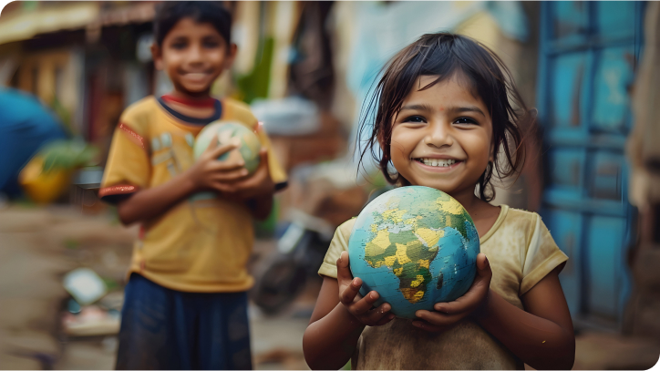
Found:
[[488, 301], [491, 278], [490, 263], [486, 255], [480, 253], [477, 255], [477, 276], [468, 292], [453, 302], [435, 304], [433, 308], [438, 312], [417, 311], [416, 314], [422, 321], [413, 321], [413, 325], [429, 332], [437, 332], [470, 314], [479, 314]]

